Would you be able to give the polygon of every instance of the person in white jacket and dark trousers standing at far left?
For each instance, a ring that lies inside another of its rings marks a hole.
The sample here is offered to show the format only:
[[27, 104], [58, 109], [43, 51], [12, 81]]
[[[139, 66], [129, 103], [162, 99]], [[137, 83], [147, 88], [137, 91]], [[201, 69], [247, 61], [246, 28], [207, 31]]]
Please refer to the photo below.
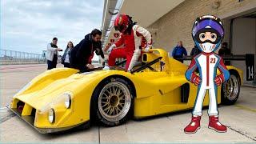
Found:
[[58, 38], [53, 38], [53, 42], [47, 45], [46, 59], [47, 59], [47, 70], [56, 68], [58, 61], [58, 51], [62, 51], [57, 46]]

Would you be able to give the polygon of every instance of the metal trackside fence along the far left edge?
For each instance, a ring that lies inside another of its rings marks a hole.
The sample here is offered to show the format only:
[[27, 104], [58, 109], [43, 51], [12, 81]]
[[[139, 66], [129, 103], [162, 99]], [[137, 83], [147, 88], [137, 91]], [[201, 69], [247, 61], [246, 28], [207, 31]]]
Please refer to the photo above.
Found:
[[14, 50], [0, 50], [0, 65], [45, 63], [42, 54], [26, 53]]

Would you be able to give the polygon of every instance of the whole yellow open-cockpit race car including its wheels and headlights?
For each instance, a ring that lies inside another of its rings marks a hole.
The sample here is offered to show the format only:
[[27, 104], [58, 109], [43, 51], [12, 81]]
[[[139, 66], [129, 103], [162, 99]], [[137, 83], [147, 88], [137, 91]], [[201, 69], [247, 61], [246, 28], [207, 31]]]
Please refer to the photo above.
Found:
[[[227, 68], [230, 80], [218, 87], [218, 103], [230, 105], [238, 99], [242, 71]], [[193, 108], [198, 87], [186, 80], [186, 69], [165, 50], [153, 49], [131, 72], [47, 70], [15, 94], [9, 108], [43, 134], [87, 127], [90, 121], [118, 126], [131, 117]], [[208, 103], [206, 95], [203, 105]]]

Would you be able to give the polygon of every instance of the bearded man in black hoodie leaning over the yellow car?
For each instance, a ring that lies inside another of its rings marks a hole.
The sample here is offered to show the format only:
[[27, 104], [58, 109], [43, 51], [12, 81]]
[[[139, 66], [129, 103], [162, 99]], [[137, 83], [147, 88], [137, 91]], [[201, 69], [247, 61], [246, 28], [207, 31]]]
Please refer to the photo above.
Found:
[[94, 69], [94, 65], [90, 64], [90, 57], [93, 56], [94, 51], [96, 54], [101, 49], [102, 32], [94, 29], [90, 34], [87, 34], [78, 45], [70, 51], [70, 67], [84, 72], [88, 69]]

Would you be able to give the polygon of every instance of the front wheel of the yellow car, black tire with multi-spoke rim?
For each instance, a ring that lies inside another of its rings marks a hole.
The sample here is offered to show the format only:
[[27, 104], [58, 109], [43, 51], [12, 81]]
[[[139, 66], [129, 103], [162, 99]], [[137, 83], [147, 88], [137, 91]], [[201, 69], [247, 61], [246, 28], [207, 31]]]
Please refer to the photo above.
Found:
[[93, 119], [103, 126], [121, 125], [133, 114], [133, 97], [129, 82], [122, 78], [107, 78], [94, 90], [91, 101]]

